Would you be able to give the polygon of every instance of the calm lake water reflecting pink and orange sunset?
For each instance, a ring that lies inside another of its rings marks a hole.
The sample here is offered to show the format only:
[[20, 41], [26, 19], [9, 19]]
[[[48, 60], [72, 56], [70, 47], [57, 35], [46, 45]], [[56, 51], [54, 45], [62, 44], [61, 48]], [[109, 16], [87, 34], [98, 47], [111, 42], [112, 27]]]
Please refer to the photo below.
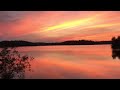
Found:
[[34, 57], [26, 79], [120, 78], [120, 59], [113, 59], [110, 45], [37, 46], [17, 50]]

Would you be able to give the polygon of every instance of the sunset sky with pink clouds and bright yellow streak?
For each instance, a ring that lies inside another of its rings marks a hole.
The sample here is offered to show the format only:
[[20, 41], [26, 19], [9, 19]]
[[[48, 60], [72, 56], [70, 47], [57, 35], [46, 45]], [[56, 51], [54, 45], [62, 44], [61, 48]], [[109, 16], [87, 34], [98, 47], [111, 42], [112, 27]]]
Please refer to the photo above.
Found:
[[120, 11], [0, 11], [0, 41], [111, 40]]

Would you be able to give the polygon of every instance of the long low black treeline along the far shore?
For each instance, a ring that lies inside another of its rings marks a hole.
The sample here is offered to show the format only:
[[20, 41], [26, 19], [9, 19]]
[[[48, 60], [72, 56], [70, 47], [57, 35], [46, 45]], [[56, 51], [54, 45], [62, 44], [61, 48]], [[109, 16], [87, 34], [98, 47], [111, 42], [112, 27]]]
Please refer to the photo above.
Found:
[[111, 44], [111, 41], [71, 40], [57, 43], [45, 43], [19, 40], [19, 41], [1, 41], [0, 47], [47, 46], [47, 45], [96, 45], [96, 44]]

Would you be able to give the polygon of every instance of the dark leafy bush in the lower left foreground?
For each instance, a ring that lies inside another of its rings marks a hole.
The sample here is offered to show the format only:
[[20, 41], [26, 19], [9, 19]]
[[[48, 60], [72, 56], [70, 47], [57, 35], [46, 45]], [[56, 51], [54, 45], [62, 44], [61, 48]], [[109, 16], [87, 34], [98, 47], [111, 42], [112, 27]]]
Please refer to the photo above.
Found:
[[0, 79], [24, 79], [25, 70], [31, 70], [32, 57], [21, 55], [15, 48], [0, 51]]

